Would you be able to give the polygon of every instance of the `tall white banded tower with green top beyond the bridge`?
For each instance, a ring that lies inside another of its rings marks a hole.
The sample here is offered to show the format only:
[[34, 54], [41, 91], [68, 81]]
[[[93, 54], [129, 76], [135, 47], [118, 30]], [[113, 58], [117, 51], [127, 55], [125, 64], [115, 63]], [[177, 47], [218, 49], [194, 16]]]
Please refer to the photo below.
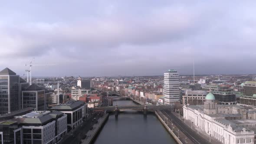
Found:
[[180, 102], [179, 73], [174, 69], [164, 72], [164, 104]]

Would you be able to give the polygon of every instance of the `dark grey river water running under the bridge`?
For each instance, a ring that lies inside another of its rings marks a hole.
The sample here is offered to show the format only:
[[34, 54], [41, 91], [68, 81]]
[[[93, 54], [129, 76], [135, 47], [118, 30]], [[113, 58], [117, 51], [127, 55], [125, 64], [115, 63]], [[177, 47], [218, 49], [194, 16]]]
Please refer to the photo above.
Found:
[[[113, 105], [135, 105], [133, 101], [113, 101]], [[119, 112], [109, 115], [94, 144], [177, 144], [151, 112]]]

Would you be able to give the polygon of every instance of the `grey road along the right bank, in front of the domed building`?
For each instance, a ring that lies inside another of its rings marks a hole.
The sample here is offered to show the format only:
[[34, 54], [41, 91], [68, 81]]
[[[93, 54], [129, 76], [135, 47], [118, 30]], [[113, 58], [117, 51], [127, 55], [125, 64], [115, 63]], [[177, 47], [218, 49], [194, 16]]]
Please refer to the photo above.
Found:
[[194, 144], [210, 144], [209, 141], [195, 133], [191, 128], [184, 124], [179, 118], [172, 114], [171, 111], [161, 111], [180, 129]]

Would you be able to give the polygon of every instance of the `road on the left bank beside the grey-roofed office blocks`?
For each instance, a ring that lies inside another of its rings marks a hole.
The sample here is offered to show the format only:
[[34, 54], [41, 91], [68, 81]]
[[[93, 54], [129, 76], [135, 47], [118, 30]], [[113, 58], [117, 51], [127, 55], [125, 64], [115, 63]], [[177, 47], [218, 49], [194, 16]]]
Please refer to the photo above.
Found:
[[[104, 112], [101, 112], [103, 114]], [[90, 128], [95, 124], [95, 121], [98, 121], [98, 118], [101, 116], [97, 116], [98, 112], [92, 114], [87, 121], [83, 121], [82, 124], [78, 125], [77, 128], [72, 132], [69, 132], [68, 136], [65, 137], [60, 144], [79, 144], [82, 140], [82, 137], [90, 130]], [[92, 121], [93, 118], [96, 120]], [[75, 136], [75, 137], [73, 137]]]

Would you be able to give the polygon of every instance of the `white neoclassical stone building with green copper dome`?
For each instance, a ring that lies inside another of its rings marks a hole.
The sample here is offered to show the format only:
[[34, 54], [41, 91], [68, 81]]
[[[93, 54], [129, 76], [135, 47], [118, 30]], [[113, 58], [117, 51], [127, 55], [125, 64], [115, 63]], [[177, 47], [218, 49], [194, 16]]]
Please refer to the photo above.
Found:
[[243, 120], [255, 110], [238, 105], [217, 105], [214, 95], [209, 93], [204, 105], [184, 105], [183, 112], [185, 119], [220, 143], [254, 144], [256, 120]]

